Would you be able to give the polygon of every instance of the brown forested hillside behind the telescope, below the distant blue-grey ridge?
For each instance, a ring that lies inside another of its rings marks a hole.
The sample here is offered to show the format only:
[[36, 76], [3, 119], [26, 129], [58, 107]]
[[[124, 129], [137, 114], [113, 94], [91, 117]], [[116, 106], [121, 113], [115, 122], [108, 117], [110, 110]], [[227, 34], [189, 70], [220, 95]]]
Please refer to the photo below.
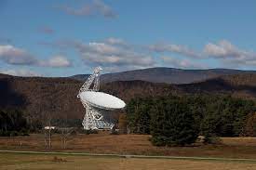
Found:
[[[101, 91], [124, 99], [183, 96], [185, 94], [225, 94], [256, 98], [256, 75], [238, 74], [188, 85], [155, 84], [144, 81], [117, 81], [101, 84]], [[0, 107], [20, 108], [28, 121], [52, 118], [82, 119], [84, 108], [77, 92], [83, 82], [70, 78], [15, 77], [0, 75]]]

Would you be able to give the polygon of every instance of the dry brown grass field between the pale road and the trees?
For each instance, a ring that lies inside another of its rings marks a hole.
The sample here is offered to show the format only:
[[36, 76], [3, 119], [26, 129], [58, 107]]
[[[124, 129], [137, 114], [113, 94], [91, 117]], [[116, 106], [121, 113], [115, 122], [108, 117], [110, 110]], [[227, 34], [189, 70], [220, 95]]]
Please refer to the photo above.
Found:
[[[222, 145], [196, 144], [191, 147], [155, 147], [147, 135], [108, 135], [105, 133], [76, 135], [68, 139], [67, 149], [61, 149], [61, 137], [53, 136], [52, 151], [199, 156], [223, 158], [256, 158], [256, 137], [223, 137]], [[0, 150], [43, 150], [44, 136], [0, 137]]]

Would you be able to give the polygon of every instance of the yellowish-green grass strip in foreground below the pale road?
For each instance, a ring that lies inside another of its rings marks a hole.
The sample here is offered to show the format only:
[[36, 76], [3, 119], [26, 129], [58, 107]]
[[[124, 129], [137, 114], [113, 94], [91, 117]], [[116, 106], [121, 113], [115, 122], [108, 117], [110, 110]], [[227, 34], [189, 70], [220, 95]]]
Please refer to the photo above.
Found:
[[256, 163], [66, 156], [0, 152], [0, 169], [87, 169], [87, 170], [253, 170]]

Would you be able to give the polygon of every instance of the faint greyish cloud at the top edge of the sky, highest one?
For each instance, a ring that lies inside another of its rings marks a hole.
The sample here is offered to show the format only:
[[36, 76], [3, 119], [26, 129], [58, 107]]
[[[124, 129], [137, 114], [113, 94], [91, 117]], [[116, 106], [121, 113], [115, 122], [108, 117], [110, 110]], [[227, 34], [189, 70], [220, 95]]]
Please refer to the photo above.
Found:
[[117, 17], [114, 10], [103, 3], [101, 0], [93, 0], [90, 4], [84, 5], [80, 8], [62, 6], [61, 10], [67, 14], [74, 16], [96, 16], [101, 15], [105, 18], [113, 19]]

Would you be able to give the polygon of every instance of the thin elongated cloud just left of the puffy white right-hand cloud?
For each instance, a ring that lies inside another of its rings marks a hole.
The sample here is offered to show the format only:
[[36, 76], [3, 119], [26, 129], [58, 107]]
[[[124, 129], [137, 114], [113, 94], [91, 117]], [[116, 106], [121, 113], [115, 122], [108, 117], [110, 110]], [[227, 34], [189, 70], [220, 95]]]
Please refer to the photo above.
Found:
[[202, 55], [195, 50], [188, 48], [187, 46], [175, 45], [175, 44], [155, 44], [148, 46], [151, 51], [154, 52], [171, 52], [182, 54], [187, 57], [192, 57], [195, 59], [202, 58]]

